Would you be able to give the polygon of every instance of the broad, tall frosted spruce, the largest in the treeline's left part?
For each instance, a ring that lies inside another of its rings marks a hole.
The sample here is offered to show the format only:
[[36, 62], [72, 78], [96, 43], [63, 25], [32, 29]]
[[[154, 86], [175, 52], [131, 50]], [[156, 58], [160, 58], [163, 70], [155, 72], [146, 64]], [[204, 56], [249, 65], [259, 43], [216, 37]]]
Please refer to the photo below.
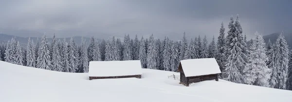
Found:
[[44, 34], [39, 45], [37, 68], [51, 70], [51, 56], [47, 36]]

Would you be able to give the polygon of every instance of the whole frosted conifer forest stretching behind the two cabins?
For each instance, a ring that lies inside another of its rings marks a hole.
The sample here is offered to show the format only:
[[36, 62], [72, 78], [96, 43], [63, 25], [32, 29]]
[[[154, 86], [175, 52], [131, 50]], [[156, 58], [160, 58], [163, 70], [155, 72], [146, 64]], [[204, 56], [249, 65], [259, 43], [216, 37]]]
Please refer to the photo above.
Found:
[[[0, 43], [0, 60], [40, 69], [87, 73], [89, 61], [141, 60], [143, 68], [176, 72], [179, 61], [190, 58], [216, 58], [221, 70], [220, 78], [262, 87], [292, 90], [292, 54], [282, 32], [276, 42], [265, 44], [263, 37], [255, 32], [255, 38], [246, 40], [239, 16], [231, 16], [226, 25], [218, 27], [219, 37], [207, 41], [198, 35], [189, 41], [182, 33], [182, 40], [154, 39], [154, 35], [137, 35], [134, 39], [125, 35], [123, 42], [112, 37], [98, 42], [91, 37], [86, 44], [82, 38], [79, 46], [72, 37], [70, 41], [55, 39], [48, 43], [44, 34], [34, 42], [28, 39], [20, 46], [16, 38]], [[249, 42], [249, 43], [248, 43]]]

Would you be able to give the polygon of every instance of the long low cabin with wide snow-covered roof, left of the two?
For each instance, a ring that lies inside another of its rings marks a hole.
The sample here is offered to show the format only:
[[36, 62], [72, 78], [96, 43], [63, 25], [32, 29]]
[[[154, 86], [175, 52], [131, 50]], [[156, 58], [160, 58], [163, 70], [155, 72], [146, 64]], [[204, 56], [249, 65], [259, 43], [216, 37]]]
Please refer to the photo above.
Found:
[[90, 61], [89, 79], [106, 78], [141, 78], [142, 66], [140, 60], [123, 61]]

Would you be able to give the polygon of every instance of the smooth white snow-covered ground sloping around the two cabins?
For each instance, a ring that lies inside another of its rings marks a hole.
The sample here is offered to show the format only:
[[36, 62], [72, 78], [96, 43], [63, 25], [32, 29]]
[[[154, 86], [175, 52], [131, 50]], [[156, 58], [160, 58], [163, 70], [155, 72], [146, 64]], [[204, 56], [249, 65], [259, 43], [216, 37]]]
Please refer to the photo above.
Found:
[[219, 80], [185, 87], [143, 69], [142, 79], [95, 79], [0, 61], [0, 102], [292, 102], [292, 91]]

